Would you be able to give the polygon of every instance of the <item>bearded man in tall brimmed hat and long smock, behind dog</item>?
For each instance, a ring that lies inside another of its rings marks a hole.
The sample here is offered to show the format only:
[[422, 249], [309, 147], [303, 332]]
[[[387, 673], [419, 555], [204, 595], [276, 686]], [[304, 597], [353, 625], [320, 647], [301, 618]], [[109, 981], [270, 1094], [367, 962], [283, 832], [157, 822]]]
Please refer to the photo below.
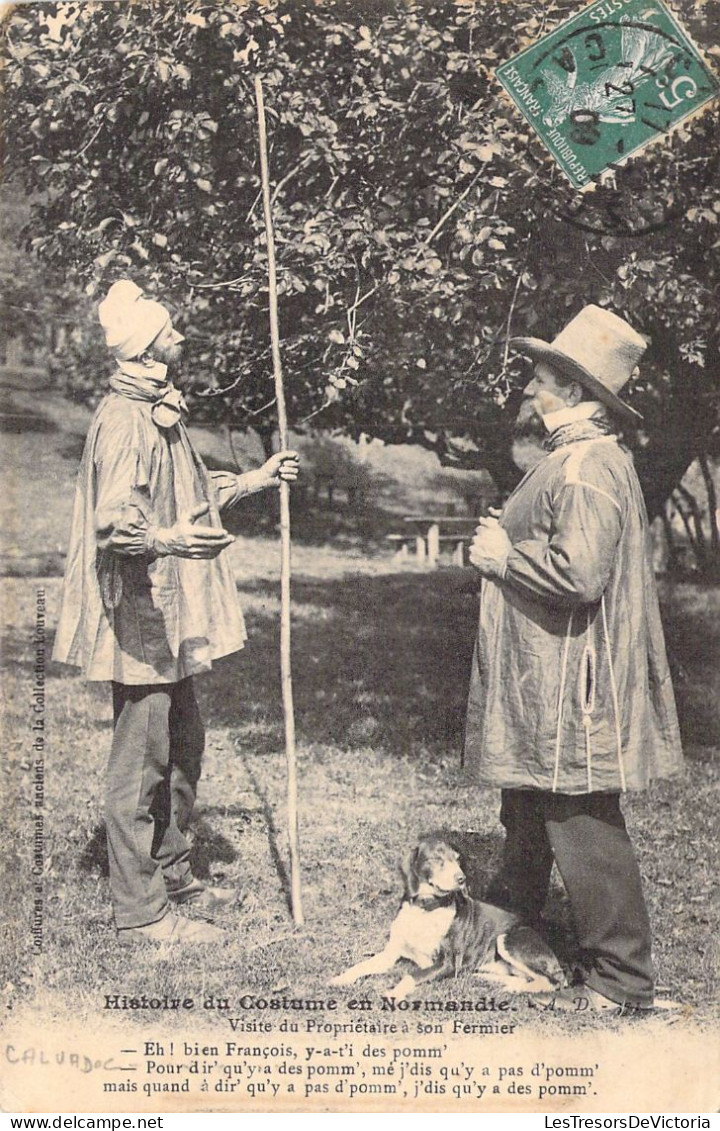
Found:
[[650, 924], [619, 797], [675, 775], [682, 751], [645, 508], [616, 434], [639, 418], [617, 394], [645, 340], [590, 305], [552, 344], [512, 344], [535, 361], [521, 416], [531, 404], [548, 454], [470, 551], [483, 588], [467, 765], [501, 787], [506, 834], [485, 898], [537, 920], [555, 861], [584, 972], [540, 1004], [647, 1009]]

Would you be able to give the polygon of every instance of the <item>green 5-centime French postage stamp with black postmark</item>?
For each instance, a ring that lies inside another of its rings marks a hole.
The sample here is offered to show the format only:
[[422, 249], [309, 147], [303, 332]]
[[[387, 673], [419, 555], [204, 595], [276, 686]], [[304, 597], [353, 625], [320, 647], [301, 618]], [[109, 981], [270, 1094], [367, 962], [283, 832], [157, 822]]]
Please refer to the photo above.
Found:
[[599, 0], [496, 74], [579, 189], [719, 89], [661, 0]]

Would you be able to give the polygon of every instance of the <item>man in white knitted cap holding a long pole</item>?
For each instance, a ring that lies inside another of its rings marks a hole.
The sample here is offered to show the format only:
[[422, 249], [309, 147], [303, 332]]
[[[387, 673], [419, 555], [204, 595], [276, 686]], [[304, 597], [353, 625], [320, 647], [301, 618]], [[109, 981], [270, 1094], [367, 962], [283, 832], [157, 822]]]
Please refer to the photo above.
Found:
[[208, 472], [167, 378], [182, 335], [167, 309], [123, 279], [98, 316], [116, 369], [88, 432], [54, 658], [113, 685], [105, 817], [120, 941], [209, 943], [235, 899], [190, 866], [190, 821], [205, 732], [193, 675], [243, 647], [245, 628], [220, 511], [297, 477], [280, 451], [244, 475]]

